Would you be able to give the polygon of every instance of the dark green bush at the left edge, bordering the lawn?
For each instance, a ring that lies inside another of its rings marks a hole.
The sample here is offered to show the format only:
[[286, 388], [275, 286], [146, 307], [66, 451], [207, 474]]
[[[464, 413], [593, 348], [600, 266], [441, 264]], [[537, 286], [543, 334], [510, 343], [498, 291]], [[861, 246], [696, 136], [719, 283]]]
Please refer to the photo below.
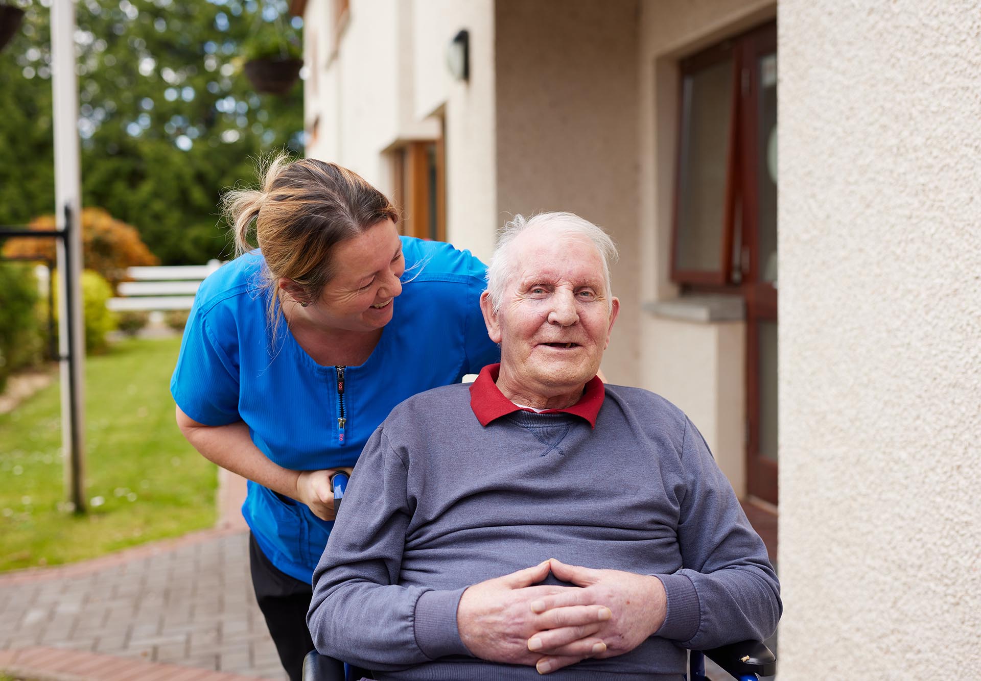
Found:
[[40, 359], [38, 297], [33, 266], [0, 264], [0, 391], [11, 372]]

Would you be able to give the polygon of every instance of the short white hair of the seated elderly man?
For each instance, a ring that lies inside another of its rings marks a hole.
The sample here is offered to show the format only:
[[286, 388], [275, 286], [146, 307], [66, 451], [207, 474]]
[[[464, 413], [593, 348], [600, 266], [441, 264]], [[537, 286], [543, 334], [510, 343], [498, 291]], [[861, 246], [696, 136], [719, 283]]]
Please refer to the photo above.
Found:
[[575, 213], [540, 213], [526, 219], [517, 215], [508, 221], [497, 237], [497, 248], [488, 268], [488, 294], [493, 311], [500, 310], [504, 300], [504, 289], [515, 275], [517, 269], [517, 251], [514, 241], [518, 235], [529, 229], [547, 229], [555, 238], [583, 239], [590, 241], [603, 263], [603, 281], [607, 307], [612, 305], [610, 292], [610, 265], [616, 263], [619, 257], [613, 239], [588, 219], [580, 218]]

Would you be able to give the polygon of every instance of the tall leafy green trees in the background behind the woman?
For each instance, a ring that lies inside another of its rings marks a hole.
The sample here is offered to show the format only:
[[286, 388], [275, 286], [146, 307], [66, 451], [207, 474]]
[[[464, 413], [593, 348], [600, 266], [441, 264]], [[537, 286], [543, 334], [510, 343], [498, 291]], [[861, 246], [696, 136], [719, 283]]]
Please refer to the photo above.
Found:
[[[54, 208], [50, 0], [24, 0], [0, 53], [0, 223]], [[257, 32], [296, 33], [284, 0], [77, 3], [82, 205], [134, 225], [165, 265], [228, 257], [220, 191], [260, 153], [302, 153], [302, 86], [258, 95], [241, 73]]]

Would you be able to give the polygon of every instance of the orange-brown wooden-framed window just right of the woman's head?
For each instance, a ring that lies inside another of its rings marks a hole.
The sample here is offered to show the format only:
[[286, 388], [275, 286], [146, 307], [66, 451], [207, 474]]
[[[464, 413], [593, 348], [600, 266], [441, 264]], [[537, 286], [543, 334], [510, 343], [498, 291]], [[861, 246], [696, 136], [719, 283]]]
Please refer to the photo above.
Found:
[[445, 241], [442, 140], [409, 142], [394, 151], [392, 164], [401, 232], [420, 239]]

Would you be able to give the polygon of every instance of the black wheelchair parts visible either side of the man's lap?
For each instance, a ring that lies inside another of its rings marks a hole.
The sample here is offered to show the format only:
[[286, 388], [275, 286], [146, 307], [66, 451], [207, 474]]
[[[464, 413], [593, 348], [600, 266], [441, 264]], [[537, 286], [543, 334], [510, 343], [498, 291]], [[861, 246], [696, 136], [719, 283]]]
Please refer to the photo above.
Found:
[[[692, 651], [689, 657], [690, 681], [723, 681], [705, 676], [705, 657], [738, 681], [759, 681], [777, 673], [777, 658], [759, 641], [741, 641], [710, 651]], [[371, 674], [333, 657], [311, 651], [303, 660], [303, 681], [359, 681]], [[542, 678], [547, 678], [547, 674]]]

